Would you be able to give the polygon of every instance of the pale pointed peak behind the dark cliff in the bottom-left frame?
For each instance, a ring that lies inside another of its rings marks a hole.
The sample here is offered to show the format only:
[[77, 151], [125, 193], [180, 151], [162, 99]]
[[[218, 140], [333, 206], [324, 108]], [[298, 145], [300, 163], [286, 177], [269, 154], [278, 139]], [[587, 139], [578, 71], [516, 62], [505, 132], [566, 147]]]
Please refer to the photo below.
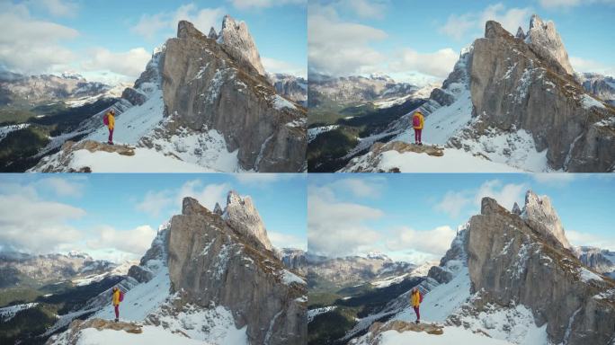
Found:
[[227, 206], [222, 212], [222, 217], [229, 226], [248, 238], [255, 248], [263, 246], [268, 251], [272, 250], [267, 229], [265, 229], [263, 219], [254, 208], [252, 198], [241, 197], [235, 190], [229, 191]]

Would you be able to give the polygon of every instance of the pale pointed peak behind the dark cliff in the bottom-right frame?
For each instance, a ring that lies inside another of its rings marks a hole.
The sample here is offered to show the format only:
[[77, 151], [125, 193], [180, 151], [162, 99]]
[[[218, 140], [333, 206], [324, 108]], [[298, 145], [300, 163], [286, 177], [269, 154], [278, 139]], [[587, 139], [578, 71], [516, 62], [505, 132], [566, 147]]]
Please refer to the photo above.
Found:
[[525, 206], [523, 206], [521, 217], [535, 223], [536, 228], [542, 230], [541, 233], [555, 237], [565, 248], [570, 248], [570, 243], [564, 234], [564, 226], [551, 204], [551, 199], [547, 196], [539, 196], [528, 190], [525, 194]]

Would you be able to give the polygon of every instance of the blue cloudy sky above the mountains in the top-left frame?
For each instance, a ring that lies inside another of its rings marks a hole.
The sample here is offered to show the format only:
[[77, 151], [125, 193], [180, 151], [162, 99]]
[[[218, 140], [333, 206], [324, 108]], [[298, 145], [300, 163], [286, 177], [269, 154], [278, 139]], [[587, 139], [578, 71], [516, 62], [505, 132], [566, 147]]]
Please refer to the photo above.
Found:
[[247, 23], [265, 69], [305, 75], [306, 11], [306, 0], [0, 0], [0, 66], [134, 82], [180, 19], [208, 33], [228, 13]]

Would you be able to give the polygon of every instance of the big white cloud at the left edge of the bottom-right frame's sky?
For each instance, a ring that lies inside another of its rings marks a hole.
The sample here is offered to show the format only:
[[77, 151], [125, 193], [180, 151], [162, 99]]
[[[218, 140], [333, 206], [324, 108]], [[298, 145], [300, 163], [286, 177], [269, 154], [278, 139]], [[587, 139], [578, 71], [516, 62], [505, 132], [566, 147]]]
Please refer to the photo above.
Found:
[[368, 252], [382, 235], [367, 225], [384, 212], [355, 203], [334, 199], [329, 187], [308, 187], [308, 250], [327, 256], [345, 256]]

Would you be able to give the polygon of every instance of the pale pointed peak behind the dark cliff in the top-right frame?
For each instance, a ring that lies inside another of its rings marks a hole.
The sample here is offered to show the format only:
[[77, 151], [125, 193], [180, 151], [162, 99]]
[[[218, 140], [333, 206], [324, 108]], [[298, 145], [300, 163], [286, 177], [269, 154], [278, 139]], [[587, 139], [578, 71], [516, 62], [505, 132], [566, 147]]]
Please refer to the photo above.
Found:
[[530, 30], [525, 35], [525, 42], [537, 55], [557, 62], [567, 74], [574, 75], [575, 70], [570, 65], [568, 53], [554, 22], [543, 22], [538, 14], [533, 14], [530, 19]]

